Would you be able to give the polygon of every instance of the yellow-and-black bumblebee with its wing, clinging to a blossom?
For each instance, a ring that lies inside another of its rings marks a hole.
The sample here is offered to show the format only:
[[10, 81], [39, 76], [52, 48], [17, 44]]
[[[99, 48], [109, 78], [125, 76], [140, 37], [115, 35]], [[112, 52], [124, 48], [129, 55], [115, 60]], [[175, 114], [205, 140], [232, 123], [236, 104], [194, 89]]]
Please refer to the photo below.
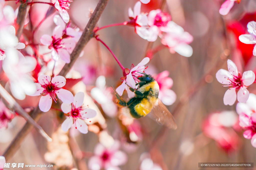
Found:
[[151, 115], [159, 124], [176, 129], [177, 125], [172, 114], [161, 100], [158, 99], [159, 85], [155, 79], [151, 75], [145, 74], [144, 76], [138, 77], [138, 80], [140, 82], [136, 84], [138, 86], [137, 89], [130, 87], [130, 90], [134, 92], [135, 96], [129, 99], [128, 102], [119, 96], [113, 88], [118, 99], [118, 104], [124, 114], [138, 119], [151, 112]]

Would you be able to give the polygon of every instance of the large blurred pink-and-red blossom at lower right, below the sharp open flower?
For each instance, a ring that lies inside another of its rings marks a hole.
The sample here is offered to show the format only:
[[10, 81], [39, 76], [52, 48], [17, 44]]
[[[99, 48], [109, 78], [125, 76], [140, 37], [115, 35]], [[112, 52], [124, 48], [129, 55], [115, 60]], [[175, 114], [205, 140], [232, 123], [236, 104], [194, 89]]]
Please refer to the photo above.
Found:
[[202, 123], [203, 133], [214, 139], [225, 152], [230, 153], [239, 148], [241, 141], [233, 127], [238, 122], [232, 111], [210, 114]]

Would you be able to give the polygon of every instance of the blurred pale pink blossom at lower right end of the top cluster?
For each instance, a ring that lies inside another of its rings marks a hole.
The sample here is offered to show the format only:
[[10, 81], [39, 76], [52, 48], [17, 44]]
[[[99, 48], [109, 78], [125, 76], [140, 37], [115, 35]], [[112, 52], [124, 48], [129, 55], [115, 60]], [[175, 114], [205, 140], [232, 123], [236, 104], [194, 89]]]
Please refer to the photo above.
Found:
[[193, 54], [193, 49], [190, 45], [193, 41], [193, 36], [188, 32], [184, 32], [184, 29], [169, 21], [167, 27], [162, 28], [162, 31], [166, 34], [161, 38], [161, 43], [168, 46], [170, 53], [179, 53], [182, 56], [190, 57]]

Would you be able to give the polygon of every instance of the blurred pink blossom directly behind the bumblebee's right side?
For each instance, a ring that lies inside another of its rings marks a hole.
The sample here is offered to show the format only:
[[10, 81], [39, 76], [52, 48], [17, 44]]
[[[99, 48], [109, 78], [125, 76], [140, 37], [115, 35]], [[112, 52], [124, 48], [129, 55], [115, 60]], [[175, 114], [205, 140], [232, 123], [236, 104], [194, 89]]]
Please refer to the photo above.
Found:
[[158, 75], [154, 76], [155, 80], [159, 85], [159, 96], [158, 98], [165, 104], [165, 105], [172, 105], [176, 101], [176, 94], [172, 88], [173, 80], [168, 77], [169, 72], [163, 71]]

